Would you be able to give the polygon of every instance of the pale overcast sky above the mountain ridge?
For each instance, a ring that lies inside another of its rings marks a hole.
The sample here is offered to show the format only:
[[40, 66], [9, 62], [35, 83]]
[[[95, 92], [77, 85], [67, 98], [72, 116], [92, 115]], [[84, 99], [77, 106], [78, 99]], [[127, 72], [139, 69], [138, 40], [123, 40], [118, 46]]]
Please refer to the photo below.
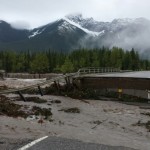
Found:
[[99, 21], [150, 19], [150, 0], [0, 0], [0, 20], [18, 27], [34, 28], [74, 13]]

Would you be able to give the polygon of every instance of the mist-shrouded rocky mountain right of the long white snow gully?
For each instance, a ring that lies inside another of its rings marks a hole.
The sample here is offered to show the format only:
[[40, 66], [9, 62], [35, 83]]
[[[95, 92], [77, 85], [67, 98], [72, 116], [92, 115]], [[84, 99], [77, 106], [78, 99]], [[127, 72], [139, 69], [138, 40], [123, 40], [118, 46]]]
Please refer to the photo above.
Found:
[[83, 18], [81, 14], [67, 18], [82, 28], [97, 32], [97, 37], [89, 36], [82, 39], [83, 47], [113, 47], [119, 46], [125, 49], [137, 50], [150, 49], [150, 21], [145, 18], [114, 19], [112, 22], [95, 21], [93, 18]]

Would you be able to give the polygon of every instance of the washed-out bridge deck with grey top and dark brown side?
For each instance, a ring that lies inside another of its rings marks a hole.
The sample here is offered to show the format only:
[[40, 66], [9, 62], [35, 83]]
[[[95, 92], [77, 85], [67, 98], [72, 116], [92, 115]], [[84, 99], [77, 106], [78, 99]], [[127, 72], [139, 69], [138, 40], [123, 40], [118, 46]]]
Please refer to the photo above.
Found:
[[150, 90], [150, 71], [86, 74], [76, 78], [80, 88], [122, 88]]

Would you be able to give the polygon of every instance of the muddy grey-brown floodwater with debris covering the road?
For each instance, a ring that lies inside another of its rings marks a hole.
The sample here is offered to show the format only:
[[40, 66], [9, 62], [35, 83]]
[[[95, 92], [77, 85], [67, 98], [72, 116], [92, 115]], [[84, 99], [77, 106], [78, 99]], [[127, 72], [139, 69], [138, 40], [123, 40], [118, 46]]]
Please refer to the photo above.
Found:
[[[9, 79], [0, 81], [0, 86], [18, 88], [38, 82], [41, 81]], [[8, 98], [8, 104], [15, 104], [27, 116], [8, 116], [9, 112], [0, 109], [1, 150], [17, 149], [46, 135], [84, 143], [122, 146], [126, 150], [150, 149], [150, 109], [109, 100], [72, 99], [67, 95], [24, 94], [29, 100], [26, 102], [17, 94], [3, 96]], [[43, 111], [46, 109], [52, 114]], [[115, 150], [115, 147], [107, 149]]]

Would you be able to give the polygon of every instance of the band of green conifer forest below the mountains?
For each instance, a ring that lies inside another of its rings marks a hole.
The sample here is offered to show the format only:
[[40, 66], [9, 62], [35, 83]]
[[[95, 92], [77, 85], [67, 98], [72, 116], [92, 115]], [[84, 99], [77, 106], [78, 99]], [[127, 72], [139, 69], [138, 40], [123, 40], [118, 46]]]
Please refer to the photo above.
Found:
[[0, 69], [6, 72], [75, 72], [82, 67], [115, 67], [122, 70], [149, 70], [150, 60], [143, 60], [134, 49], [78, 49], [69, 53], [1, 51]]

